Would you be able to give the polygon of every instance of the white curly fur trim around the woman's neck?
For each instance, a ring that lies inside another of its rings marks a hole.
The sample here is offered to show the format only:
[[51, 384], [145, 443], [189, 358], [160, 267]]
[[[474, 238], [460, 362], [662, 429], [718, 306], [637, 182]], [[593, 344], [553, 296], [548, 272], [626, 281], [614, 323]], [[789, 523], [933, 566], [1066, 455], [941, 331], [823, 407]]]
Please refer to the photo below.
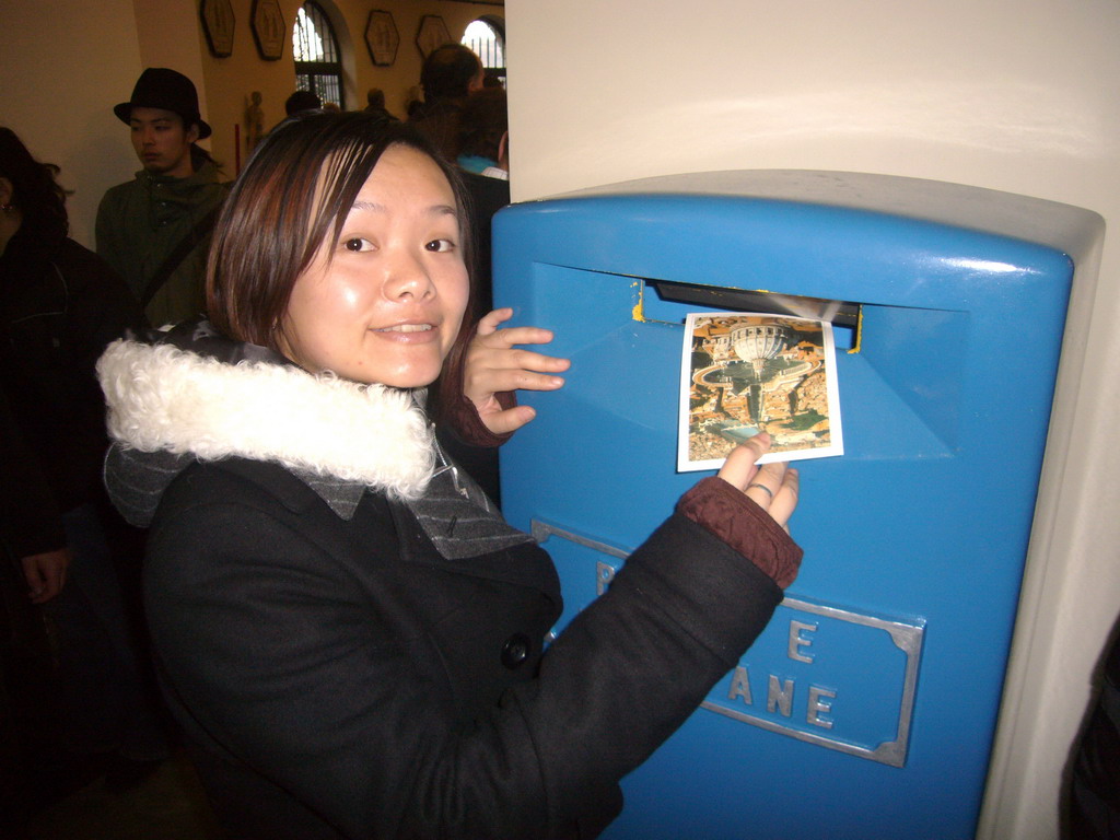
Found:
[[270, 460], [412, 500], [436, 463], [411, 392], [118, 340], [97, 362], [109, 432], [142, 451]]

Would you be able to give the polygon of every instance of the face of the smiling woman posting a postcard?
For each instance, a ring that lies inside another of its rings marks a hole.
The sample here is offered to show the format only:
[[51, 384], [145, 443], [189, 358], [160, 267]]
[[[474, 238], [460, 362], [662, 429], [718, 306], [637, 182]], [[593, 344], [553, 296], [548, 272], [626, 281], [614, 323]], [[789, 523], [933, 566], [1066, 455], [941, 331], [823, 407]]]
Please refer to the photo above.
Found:
[[292, 288], [283, 354], [305, 370], [420, 388], [439, 375], [467, 306], [455, 193], [423, 152], [377, 160], [327, 260], [319, 248]]

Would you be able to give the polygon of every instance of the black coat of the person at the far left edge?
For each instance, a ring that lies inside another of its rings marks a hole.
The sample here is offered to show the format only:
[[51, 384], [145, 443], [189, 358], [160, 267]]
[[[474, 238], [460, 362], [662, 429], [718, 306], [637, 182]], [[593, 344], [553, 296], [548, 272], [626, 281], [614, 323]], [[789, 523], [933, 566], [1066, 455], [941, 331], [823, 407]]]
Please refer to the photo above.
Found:
[[17, 556], [60, 548], [57, 516], [36, 521], [44, 510], [103, 497], [109, 439], [94, 364], [139, 318], [124, 281], [73, 240], [45, 241], [21, 228], [0, 256], [0, 388], [24, 441], [19, 449], [3, 445], [0, 516], [27, 510], [0, 524]]

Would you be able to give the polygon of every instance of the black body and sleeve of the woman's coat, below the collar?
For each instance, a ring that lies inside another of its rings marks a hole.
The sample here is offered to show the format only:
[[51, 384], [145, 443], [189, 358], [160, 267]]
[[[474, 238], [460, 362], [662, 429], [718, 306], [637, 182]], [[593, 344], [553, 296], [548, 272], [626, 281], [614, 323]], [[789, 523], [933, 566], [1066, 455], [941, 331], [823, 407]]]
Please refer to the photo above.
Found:
[[270, 840], [594, 837], [782, 597], [674, 514], [542, 656], [538, 547], [445, 560], [383, 495], [345, 521], [242, 459], [176, 479], [149, 557], [172, 710], [223, 821]]

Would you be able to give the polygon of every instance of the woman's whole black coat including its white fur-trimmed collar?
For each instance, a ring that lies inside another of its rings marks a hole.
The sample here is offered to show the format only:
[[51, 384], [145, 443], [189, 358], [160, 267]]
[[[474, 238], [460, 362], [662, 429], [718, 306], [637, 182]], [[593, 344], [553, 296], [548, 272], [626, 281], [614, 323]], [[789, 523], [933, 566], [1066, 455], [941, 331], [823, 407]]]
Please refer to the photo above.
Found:
[[419, 395], [149, 338], [99, 363], [106, 479], [150, 523], [165, 693], [237, 838], [595, 837], [782, 598], [674, 513], [544, 651], [552, 563], [439, 468]]

